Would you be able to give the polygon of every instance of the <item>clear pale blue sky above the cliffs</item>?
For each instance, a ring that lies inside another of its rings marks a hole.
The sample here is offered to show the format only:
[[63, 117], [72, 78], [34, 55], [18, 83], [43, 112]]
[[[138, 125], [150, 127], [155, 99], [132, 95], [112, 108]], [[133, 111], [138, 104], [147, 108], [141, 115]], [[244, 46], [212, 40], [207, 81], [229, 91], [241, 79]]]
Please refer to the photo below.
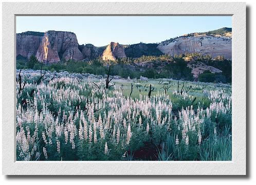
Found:
[[192, 32], [232, 27], [231, 16], [17, 16], [16, 33], [47, 30], [76, 33], [78, 43], [104, 46], [158, 43]]

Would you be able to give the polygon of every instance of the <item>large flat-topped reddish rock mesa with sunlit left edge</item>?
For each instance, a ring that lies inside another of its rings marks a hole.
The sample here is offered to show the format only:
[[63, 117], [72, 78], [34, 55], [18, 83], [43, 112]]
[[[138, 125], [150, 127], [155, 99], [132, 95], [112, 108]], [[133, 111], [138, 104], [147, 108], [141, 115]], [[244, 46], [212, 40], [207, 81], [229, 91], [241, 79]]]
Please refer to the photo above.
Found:
[[82, 60], [83, 54], [78, 46], [79, 44], [75, 33], [47, 31], [36, 53], [36, 58], [44, 63], [59, 62], [61, 59]]

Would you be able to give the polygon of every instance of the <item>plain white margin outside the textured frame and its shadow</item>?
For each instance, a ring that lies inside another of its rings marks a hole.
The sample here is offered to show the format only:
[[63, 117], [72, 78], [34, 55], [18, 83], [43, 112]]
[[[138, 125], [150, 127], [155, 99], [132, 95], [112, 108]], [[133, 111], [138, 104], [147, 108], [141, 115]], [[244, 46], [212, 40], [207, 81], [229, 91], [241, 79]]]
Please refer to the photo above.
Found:
[[[5, 2], [17, 2], [17, 1], [5, 1]], [[33, 1], [20, 1], [20, 2], [33, 2]], [[41, 1], [42, 2], [42, 1]], [[49, 0], [44, 0], [43, 2], [52, 2]], [[59, 0], [54, 2], [70, 2], [65, 0]], [[76, 1], [76, 2], [84, 2], [84, 1]], [[88, 1], [87, 2], [96, 2], [96, 1]], [[121, 1], [97, 1], [97, 2], [121, 2]], [[147, 2], [147, 1], [125, 1], [125, 2]], [[157, 2], [156, 0], [149, 2]], [[177, 1], [164, 1], [161, 2], [177, 2]], [[184, 1], [184, 2], [201, 2], [201, 1]], [[222, 2], [222, 1], [211, 1], [211, 2]], [[133, 184], [133, 183], [143, 183], [143, 184], [184, 184], [187, 183], [189, 185], [192, 184], [256, 184], [256, 165], [255, 158], [256, 157], [256, 144], [255, 138], [256, 134], [256, 126], [253, 115], [256, 114], [256, 101], [255, 101], [255, 92], [256, 92], [256, 83], [254, 80], [256, 79], [256, 61], [254, 60], [253, 52], [256, 51], [255, 44], [255, 34], [256, 34], [256, 1], [229, 1], [225, 0], [224, 2], [246, 2], [247, 3], [247, 176], [3, 176], [1, 175], [2, 184], [85, 184], [85, 183], [93, 183], [93, 184]], [[2, 16], [2, 4], [1, 6], [1, 16]], [[0, 20], [2, 25], [2, 18]], [[186, 24], [186, 23], [184, 23]], [[0, 41], [2, 43], [2, 32]], [[1, 44], [1, 59], [2, 59], [2, 44]], [[2, 97], [2, 62], [0, 67], [0, 94]], [[0, 104], [2, 105], [2, 98], [0, 99]], [[254, 106], [253, 106], [254, 105]], [[1, 108], [4, 108], [8, 105], [2, 105]], [[2, 122], [2, 109], [0, 110], [0, 120]], [[5, 123], [2, 123], [5, 124]], [[1, 133], [0, 140], [2, 143], [2, 125], [1, 125]], [[2, 146], [2, 145], [1, 145]], [[11, 154], [10, 154], [11, 155]], [[2, 147], [1, 147], [1, 161], [2, 161]], [[2, 162], [1, 163], [1, 174], [2, 174]]]

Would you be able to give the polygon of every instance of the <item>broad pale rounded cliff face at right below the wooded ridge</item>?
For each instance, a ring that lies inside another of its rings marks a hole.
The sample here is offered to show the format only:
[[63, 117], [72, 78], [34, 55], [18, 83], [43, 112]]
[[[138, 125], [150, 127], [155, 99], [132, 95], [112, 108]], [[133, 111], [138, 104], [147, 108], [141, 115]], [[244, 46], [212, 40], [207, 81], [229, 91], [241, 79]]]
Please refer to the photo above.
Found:
[[157, 48], [170, 55], [197, 52], [212, 57], [222, 55], [226, 59], [232, 59], [231, 33], [227, 33], [227, 36], [206, 34], [181, 36], [169, 42], [161, 42]]

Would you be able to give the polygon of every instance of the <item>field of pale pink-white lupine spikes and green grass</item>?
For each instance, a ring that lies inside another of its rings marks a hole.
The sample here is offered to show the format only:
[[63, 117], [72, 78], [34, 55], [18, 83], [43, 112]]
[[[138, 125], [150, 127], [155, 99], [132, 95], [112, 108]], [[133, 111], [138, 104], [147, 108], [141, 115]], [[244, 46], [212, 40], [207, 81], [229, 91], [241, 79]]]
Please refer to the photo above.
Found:
[[17, 160], [231, 160], [229, 84], [16, 73]]

